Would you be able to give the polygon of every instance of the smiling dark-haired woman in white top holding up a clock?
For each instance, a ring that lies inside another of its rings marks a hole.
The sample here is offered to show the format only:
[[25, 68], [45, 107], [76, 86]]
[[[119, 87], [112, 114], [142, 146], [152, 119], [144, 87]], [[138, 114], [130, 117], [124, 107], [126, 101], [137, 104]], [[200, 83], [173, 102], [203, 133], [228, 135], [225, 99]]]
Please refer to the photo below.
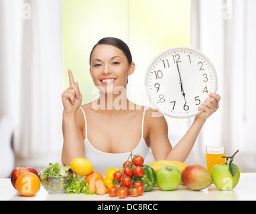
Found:
[[78, 82], [68, 70], [70, 87], [62, 94], [63, 165], [83, 157], [90, 160], [94, 171], [105, 173], [109, 167], [120, 168], [131, 150], [145, 158], [149, 148], [155, 160], [186, 160], [204, 122], [218, 109], [220, 96], [209, 94], [198, 108], [203, 112], [172, 148], [164, 116], [152, 116], [157, 110], [127, 99], [128, 76], [134, 70], [129, 47], [121, 39], [101, 39], [90, 53], [90, 76], [100, 96], [82, 106]]

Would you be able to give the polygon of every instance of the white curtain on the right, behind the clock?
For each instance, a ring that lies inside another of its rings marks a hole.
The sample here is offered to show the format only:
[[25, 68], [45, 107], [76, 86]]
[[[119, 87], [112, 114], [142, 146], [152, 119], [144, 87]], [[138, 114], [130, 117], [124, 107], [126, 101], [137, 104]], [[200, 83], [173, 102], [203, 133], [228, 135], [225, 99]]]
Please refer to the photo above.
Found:
[[[237, 149], [242, 171], [256, 171], [256, 1], [192, 0], [191, 43], [212, 60], [218, 74], [219, 110], [209, 118], [193, 149], [206, 144]], [[193, 156], [193, 154], [192, 154]]]

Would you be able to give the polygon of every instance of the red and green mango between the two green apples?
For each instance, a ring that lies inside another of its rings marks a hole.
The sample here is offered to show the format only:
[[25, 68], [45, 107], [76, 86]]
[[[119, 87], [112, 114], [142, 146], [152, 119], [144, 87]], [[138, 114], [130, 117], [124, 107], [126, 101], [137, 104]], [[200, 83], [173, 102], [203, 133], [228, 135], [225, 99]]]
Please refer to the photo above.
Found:
[[210, 173], [200, 165], [188, 165], [182, 172], [182, 181], [188, 189], [201, 190], [210, 186]]

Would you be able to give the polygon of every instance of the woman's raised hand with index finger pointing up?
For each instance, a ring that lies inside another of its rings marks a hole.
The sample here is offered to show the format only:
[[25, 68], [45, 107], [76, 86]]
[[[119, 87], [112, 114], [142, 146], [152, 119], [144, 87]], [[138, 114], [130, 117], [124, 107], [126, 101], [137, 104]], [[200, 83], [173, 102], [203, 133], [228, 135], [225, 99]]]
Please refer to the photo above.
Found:
[[75, 116], [82, 103], [82, 94], [80, 93], [78, 82], [74, 82], [74, 77], [70, 70], [68, 70], [68, 77], [70, 86], [62, 93], [63, 114]]

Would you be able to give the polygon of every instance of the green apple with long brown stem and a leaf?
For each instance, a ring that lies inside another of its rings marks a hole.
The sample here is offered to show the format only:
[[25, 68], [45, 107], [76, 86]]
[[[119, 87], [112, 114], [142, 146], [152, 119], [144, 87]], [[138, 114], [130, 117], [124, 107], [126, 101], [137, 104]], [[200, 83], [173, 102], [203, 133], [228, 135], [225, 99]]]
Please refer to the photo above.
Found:
[[[240, 178], [240, 171], [237, 165], [232, 163], [233, 175], [231, 174], [229, 163], [226, 161], [222, 165], [214, 165], [210, 175], [214, 185], [219, 190], [231, 190], [237, 186]], [[235, 169], [234, 169], [235, 168]]]

